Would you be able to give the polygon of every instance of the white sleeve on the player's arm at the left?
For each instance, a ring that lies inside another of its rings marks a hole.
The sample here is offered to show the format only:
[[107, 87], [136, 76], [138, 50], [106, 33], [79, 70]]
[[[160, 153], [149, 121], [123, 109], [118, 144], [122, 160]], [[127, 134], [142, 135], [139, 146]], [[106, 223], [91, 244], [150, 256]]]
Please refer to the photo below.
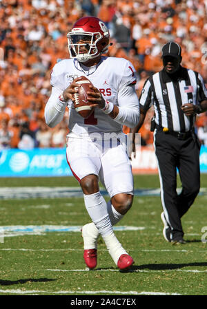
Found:
[[61, 120], [63, 120], [67, 102], [62, 103], [59, 100], [61, 93], [61, 89], [52, 87], [52, 92], [45, 108], [46, 124], [49, 127], [55, 127], [59, 122], [61, 122]]

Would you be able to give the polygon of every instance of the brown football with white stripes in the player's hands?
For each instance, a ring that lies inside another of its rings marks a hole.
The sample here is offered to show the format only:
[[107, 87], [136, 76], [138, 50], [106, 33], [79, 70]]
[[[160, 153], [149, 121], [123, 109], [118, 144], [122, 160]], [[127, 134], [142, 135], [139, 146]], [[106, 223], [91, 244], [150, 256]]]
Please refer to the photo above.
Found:
[[76, 82], [77, 84], [81, 85], [81, 87], [77, 87], [78, 92], [74, 94], [74, 107], [79, 115], [81, 115], [83, 118], [88, 118], [93, 111], [93, 108], [90, 107], [91, 103], [88, 101], [87, 94], [87, 92], [92, 92], [92, 89], [89, 87], [92, 85], [92, 83], [85, 76], [80, 77], [81, 80]]

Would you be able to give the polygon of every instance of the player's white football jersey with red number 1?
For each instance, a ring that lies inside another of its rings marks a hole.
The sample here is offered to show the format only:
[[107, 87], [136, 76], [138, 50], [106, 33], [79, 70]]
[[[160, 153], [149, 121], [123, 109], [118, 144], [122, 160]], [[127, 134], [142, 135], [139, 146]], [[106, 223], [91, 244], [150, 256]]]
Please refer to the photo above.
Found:
[[[136, 83], [135, 68], [130, 61], [124, 58], [105, 56], [101, 57], [99, 65], [90, 67], [88, 71], [83, 70], [76, 59], [64, 59], [53, 67], [50, 83], [63, 92], [79, 76], [86, 76], [99, 89], [105, 100], [117, 106], [119, 106], [117, 101], [119, 89], [125, 85]], [[95, 111], [87, 119], [77, 113], [72, 100], [68, 101], [68, 108], [70, 111], [70, 132], [79, 135], [121, 131], [122, 126], [99, 108], [95, 108]]]

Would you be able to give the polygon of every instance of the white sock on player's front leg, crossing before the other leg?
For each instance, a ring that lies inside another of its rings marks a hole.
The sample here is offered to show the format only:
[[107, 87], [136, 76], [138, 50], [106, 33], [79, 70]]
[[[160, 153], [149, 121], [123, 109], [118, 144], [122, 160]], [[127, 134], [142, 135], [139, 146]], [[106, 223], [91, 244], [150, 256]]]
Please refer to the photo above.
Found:
[[107, 204], [100, 192], [83, 194], [86, 209], [101, 236], [113, 233]]

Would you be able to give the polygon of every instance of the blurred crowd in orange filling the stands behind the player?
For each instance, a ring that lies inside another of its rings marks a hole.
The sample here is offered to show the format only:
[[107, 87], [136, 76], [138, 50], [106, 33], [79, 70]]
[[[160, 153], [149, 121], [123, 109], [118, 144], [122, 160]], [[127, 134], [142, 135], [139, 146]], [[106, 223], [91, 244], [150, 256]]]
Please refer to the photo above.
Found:
[[[50, 129], [44, 107], [52, 67], [69, 57], [66, 34], [87, 15], [108, 25], [113, 43], [108, 56], [134, 65], [138, 96], [146, 78], [162, 69], [161, 47], [170, 40], [182, 47], [182, 65], [207, 83], [206, 0], [0, 0], [0, 149], [65, 146], [68, 110]], [[142, 145], [152, 145], [152, 114], [141, 127]], [[196, 125], [207, 145], [206, 113], [197, 116]]]

